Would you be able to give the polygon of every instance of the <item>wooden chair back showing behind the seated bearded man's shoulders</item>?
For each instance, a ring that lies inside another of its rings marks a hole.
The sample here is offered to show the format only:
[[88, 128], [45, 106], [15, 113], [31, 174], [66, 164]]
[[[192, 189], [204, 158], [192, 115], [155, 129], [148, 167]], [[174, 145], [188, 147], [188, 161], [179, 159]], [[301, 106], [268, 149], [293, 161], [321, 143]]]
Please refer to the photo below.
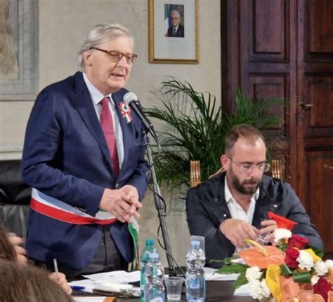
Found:
[[[278, 179], [285, 179], [285, 166], [283, 165], [282, 159], [273, 159], [271, 162], [270, 170], [272, 172], [272, 177]], [[220, 170], [211, 174], [209, 178], [216, 176], [223, 172], [223, 167]], [[194, 188], [201, 182], [200, 176], [200, 160], [190, 160], [190, 186]]]

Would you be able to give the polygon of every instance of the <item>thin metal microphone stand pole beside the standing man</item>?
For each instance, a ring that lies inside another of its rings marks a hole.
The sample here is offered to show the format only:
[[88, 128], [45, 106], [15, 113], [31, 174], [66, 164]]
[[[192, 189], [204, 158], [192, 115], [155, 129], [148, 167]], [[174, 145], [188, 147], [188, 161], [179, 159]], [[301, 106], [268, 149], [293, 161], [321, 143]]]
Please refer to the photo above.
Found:
[[164, 249], [166, 251], [166, 260], [168, 261], [169, 265], [169, 276], [176, 276], [176, 270], [174, 268], [174, 260], [172, 258], [171, 253], [171, 247], [169, 242], [169, 235], [168, 231], [166, 229], [166, 223], [165, 223], [165, 213], [161, 202], [161, 191], [159, 190], [159, 185], [157, 184], [157, 178], [155, 173], [155, 167], [154, 162], [152, 160], [152, 150], [150, 149], [150, 138], [148, 133], [145, 133], [145, 146], [147, 150], [147, 156], [148, 156], [148, 163], [150, 166], [150, 172], [152, 174], [152, 184], [153, 184], [153, 193], [154, 193], [154, 201], [155, 201], [155, 207], [157, 210], [157, 215], [159, 217], [159, 225], [162, 229], [162, 236], [163, 236], [163, 242], [164, 242]]

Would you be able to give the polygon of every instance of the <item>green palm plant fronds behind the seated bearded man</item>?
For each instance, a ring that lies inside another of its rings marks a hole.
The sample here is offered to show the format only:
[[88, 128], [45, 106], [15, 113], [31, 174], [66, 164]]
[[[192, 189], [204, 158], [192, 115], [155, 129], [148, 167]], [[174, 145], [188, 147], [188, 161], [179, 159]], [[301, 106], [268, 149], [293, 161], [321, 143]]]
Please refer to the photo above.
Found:
[[[237, 114], [228, 114], [210, 92], [197, 92], [190, 83], [176, 78], [162, 82], [164, 98], [159, 107], [146, 109], [152, 118], [166, 123], [159, 132], [162, 151], [156, 153], [157, 179], [167, 185], [190, 187], [190, 160], [200, 160], [201, 179], [208, 179], [221, 168], [220, 156], [224, 137], [234, 125], [247, 123], [263, 130], [279, 125], [280, 119], [268, 114], [267, 109], [281, 102], [280, 99], [263, 101], [247, 99], [242, 92], [236, 95]], [[184, 112], [183, 104], [188, 104]]]

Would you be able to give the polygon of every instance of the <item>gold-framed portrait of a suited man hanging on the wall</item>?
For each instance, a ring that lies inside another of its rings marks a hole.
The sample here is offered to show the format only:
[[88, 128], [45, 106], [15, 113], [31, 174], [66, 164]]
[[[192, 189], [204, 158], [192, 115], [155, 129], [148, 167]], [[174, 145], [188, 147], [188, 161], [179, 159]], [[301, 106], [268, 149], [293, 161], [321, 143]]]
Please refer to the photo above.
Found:
[[149, 0], [149, 62], [199, 63], [198, 0]]

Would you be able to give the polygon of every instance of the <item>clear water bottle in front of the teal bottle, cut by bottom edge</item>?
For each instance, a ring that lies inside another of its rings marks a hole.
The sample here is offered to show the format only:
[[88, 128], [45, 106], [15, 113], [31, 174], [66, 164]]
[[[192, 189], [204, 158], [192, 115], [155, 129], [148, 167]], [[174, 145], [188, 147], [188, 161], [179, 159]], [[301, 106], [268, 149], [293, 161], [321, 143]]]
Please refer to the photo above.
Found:
[[157, 253], [150, 254], [150, 259], [145, 266], [145, 302], [164, 302], [165, 301], [165, 288], [164, 268], [159, 262]]

